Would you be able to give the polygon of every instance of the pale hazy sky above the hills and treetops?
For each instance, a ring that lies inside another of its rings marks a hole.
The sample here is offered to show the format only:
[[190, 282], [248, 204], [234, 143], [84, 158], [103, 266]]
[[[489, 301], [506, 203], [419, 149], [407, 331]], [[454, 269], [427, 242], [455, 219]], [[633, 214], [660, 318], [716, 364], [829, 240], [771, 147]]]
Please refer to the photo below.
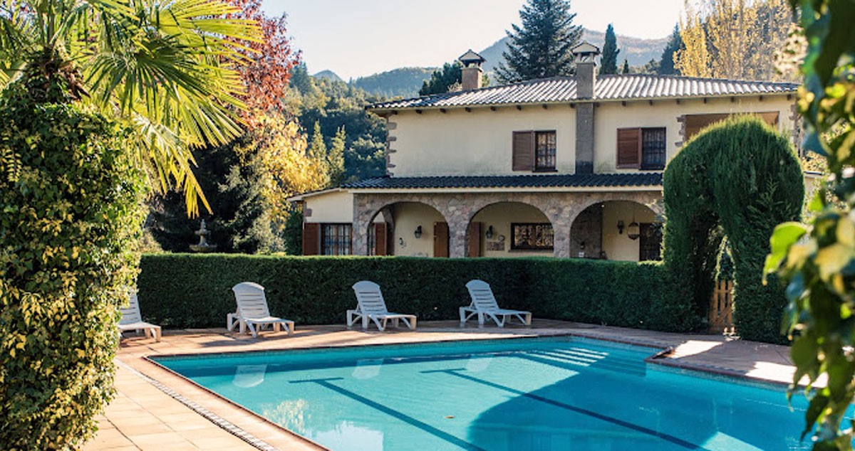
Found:
[[[520, 22], [523, 0], [263, 0], [288, 14], [288, 32], [310, 73], [343, 79], [406, 66], [439, 66], [482, 50]], [[572, 0], [575, 23], [637, 38], [663, 38], [683, 0]]]

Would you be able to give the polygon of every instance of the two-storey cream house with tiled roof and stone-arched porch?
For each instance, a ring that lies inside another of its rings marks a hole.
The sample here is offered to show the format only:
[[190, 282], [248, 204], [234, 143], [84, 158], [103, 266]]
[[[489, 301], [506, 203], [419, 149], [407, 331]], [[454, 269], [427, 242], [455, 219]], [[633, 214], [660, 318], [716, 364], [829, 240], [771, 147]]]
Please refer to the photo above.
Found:
[[665, 163], [701, 128], [758, 114], [798, 141], [797, 85], [596, 73], [481, 87], [469, 50], [463, 91], [367, 107], [386, 119], [387, 176], [292, 197], [304, 255], [655, 259]]

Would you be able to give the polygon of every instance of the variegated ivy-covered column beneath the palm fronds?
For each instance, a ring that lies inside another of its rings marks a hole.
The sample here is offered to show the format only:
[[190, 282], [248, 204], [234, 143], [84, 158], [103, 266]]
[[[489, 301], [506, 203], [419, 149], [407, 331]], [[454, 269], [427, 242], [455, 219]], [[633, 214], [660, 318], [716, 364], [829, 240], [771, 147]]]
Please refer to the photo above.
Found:
[[92, 435], [139, 258], [126, 133], [69, 99], [67, 74], [40, 69], [0, 97], [3, 449], [77, 448]]

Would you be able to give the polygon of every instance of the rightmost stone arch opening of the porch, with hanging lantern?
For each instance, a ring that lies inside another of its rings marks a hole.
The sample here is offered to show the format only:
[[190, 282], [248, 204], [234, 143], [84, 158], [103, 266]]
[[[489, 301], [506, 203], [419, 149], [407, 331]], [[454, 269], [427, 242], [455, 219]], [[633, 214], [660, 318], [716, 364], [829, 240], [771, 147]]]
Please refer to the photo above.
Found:
[[662, 227], [651, 208], [638, 202], [598, 202], [582, 210], [570, 227], [574, 258], [659, 260]]

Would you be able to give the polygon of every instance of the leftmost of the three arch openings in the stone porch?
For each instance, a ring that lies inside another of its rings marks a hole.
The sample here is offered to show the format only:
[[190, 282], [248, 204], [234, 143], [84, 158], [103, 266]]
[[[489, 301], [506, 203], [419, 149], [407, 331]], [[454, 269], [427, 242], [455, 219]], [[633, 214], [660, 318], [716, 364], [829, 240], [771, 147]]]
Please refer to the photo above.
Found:
[[368, 249], [369, 255], [447, 257], [448, 224], [428, 204], [390, 203], [369, 223]]

